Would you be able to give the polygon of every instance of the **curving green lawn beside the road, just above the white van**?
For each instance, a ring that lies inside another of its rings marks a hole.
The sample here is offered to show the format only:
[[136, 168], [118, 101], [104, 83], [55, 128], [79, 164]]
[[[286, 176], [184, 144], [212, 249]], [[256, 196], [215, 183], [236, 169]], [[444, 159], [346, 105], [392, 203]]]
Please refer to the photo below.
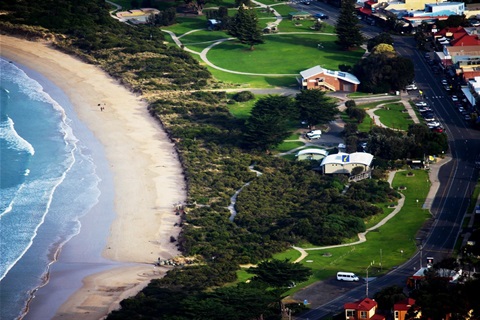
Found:
[[[430, 182], [427, 182], [426, 171], [412, 172], [412, 177], [407, 176], [407, 171], [398, 172], [393, 181], [394, 188], [406, 187], [401, 191], [405, 196], [402, 210], [377, 231], [369, 232], [367, 242], [328, 250], [308, 250], [308, 256], [301, 263], [312, 268], [313, 276], [307, 282], [297, 284], [295, 290], [333, 276], [338, 270], [355, 272], [364, 277], [366, 267], [372, 262], [369, 276], [378, 276], [402, 264], [415, 253], [415, 234], [431, 217], [427, 210], [422, 209]], [[352, 239], [348, 241], [351, 242]], [[294, 253], [287, 252], [282, 256], [275, 255], [275, 258], [286, 255], [292, 260], [296, 257]]]

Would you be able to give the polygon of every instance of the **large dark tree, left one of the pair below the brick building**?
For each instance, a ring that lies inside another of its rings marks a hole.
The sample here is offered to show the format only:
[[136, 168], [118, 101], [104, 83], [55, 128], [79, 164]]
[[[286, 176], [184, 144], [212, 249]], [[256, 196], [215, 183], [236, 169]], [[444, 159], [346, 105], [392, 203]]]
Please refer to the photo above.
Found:
[[253, 148], [268, 150], [290, 135], [292, 100], [285, 96], [267, 96], [258, 100], [246, 123], [245, 140]]

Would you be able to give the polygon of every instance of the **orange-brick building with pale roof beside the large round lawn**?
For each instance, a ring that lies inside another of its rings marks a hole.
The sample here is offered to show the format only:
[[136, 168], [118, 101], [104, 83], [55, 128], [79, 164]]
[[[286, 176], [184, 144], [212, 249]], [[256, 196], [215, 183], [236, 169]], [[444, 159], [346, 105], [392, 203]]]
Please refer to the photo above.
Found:
[[315, 66], [300, 72], [297, 79], [302, 89], [356, 92], [360, 81], [353, 74]]

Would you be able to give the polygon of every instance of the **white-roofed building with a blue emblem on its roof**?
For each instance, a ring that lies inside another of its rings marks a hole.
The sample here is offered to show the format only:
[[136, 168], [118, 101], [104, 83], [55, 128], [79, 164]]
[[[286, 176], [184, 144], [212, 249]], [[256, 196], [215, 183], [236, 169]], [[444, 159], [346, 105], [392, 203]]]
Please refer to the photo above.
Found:
[[363, 172], [371, 170], [373, 155], [367, 152], [331, 154], [323, 158], [320, 167], [324, 174], [351, 174], [352, 170], [361, 167]]

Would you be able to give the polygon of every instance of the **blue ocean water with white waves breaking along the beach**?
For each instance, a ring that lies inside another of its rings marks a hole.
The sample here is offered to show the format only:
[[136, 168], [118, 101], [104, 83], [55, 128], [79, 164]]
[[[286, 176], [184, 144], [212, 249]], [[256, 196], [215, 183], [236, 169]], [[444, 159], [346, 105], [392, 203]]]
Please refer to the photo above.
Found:
[[63, 92], [0, 58], [0, 319], [23, 317], [98, 203], [99, 149]]

